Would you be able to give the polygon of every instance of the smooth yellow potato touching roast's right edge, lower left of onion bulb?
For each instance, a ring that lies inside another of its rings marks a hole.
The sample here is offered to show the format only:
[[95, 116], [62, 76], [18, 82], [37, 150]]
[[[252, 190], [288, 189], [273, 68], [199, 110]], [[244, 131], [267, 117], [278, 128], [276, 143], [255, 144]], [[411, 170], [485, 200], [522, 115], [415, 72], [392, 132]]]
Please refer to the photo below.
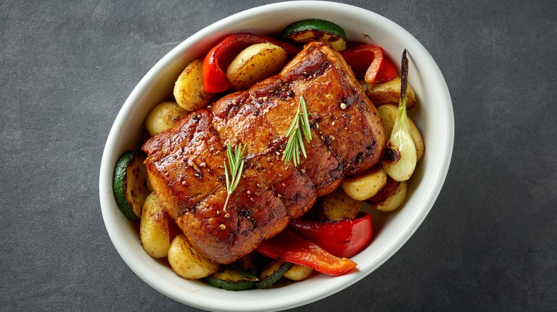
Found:
[[365, 200], [379, 192], [387, 182], [387, 174], [382, 166], [375, 166], [358, 175], [347, 177], [341, 187], [346, 194], [356, 200]]

